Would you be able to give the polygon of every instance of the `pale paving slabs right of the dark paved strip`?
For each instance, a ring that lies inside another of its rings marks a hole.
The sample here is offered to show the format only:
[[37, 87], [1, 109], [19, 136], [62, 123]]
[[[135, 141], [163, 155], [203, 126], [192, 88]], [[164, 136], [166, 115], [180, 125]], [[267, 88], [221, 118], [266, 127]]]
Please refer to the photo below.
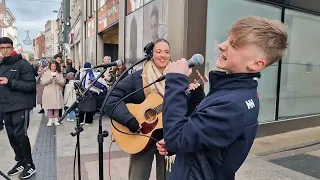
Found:
[[[57, 156], [58, 156], [58, 179], [67, 180], [72, 178], [72, 164], [73, 153], [76, 139], [71, 137], [69, 132], [73, 130], [73, 123], [65, 122], [63, 126], [57, 128]], [[103, 120], [104, 129], [110, 131], [110, 120]], [[310, 132], [318, 131], [313, 130]], [[82, 179], [85, 180], [98, 180], [99, 178], [99, 166], [98, 166], [98, 154], [97, 154], [97, 131], [98, 121], [90, 126], [84, 126], [84, 132], [81, 134], [81, 158], [82, 158]], [[297, 134], [297, 133], [296, 133]], [[301, 132], [300, 132], [301, 134]], [[300, 135], [299, 134], [299, 135]], [[305, 133], [307, 134], [307, 133]], [[281, 137], [277, 135], [272, 137], [274, 139]], [[284, 135], [288, 136], [288, 135]], [[290, 137], [294, 138], [294, 137]], [[281, 140], [284, 140], [282, 138]], [[267, 139], [269, 140], [269, 139]], [[263, 148], [259, 142], [265, 141], [265, 139], [257, 139], [257, 144], [260, 148]], [[278, 145], [276, 140], [273, 141]], [[272, 144], [272, 143], [271, 143]], [[290, 145], [292, 145], [290, 141]], [[104, 179], [109, 179], [109, 161], [108, 161], [108, 148], [110, 145], [110, 137], [105, 139], [104, 145]], [[267, 148], [270, 150], [271, 148]], [[257, 152], [262, 152], [260, 149]], [[287, 169], [285, 167], [276, 165], [271, 162], [267, 162], [263, 159], [259, 159], [252, 154], [249, 155], [247, 160], [241, 169], [237, 172], [236, 180], [317, 180], [305, 174], [297, 171]], [[123, 153], [116, 143], [113, 143], [111, 148], [110, 158], [110, 175], [112, 180], [127, 180], [127, 173], [129, 168], [129, 156]], [[155, 180], [155, 164], [153, 164], [153, 170], [150, 180]]]

